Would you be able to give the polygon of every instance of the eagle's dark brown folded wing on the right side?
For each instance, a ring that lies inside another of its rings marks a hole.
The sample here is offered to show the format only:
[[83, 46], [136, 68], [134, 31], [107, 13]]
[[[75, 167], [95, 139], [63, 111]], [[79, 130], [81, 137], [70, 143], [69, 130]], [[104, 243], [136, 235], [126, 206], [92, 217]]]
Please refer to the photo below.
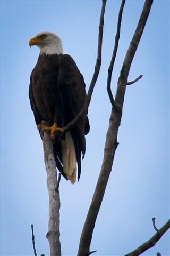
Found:
[[[75, 61], [68, 54], [60, 55], [58, 60], [58, 89], [61, 96], [63, 122], [71, 122], [81, 111], [86, 100], [86, 90], [83, 76]], [[87, 113], [71, 129], [78, 162], [78, 179], [81, 173], [81, 154], [86, 151], [85, 134], [90, 130]]]

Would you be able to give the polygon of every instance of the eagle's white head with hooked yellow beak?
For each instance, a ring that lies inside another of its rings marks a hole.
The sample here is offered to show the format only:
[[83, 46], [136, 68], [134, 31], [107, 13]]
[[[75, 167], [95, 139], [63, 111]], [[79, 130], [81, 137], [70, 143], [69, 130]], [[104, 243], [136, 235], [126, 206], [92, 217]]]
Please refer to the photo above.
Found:
[[29, 46], [37, 45], [40, 54], [63, 54], [62, 41], [59, 36], [52, 32], [41, 32], [29, 41]]

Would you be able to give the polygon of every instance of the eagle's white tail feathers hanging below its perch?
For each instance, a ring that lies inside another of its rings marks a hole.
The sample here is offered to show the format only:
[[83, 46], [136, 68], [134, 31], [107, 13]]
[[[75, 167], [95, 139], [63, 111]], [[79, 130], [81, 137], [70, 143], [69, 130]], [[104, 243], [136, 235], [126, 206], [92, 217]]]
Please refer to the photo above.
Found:
[[70, 132], [66, 132], [65, 140], [61, 140], [63, 171], [68, 180], [74, 184], [77, 175], [77, 158], [73, 139]]

